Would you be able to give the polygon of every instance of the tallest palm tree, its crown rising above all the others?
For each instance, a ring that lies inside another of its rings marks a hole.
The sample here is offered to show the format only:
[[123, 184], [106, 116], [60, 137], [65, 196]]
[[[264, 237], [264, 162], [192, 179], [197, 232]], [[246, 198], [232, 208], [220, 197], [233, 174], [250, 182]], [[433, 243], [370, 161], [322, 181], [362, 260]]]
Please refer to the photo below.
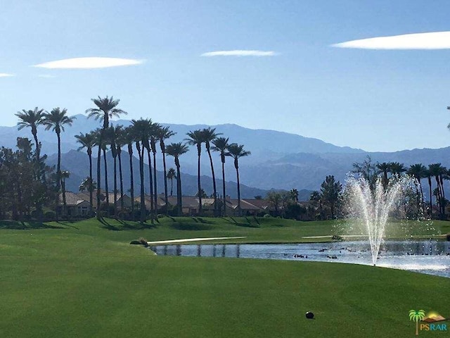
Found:
[[[122, 109], [117, 108], [120, 100], [113, 99], [113, 96], [105, 98], [101, 98], [98, 96], [98, 99], [91, 99], [92, 102], [96, 105], [96, 108], [89, 108], [86, 110], [86, 113], [89, 114], [88, 118], [95, 118], [95, 120], [103, 121], [103, 127], [100, 132], [100, 137], [98, 139], [98, 156], [97, 156], [97, 209], [100, 208], [100, 189], [101, 189], [101, 149], [103, 143], [103, 132], [108, 128], [110, 118], [119, 117], [121, 114], [127, 115], [126, 111], [122, 111]], [[108, 196], [108, 192], [106, 193]], [[101, 213], [97, 213], [97, 218], [101, 218]]]

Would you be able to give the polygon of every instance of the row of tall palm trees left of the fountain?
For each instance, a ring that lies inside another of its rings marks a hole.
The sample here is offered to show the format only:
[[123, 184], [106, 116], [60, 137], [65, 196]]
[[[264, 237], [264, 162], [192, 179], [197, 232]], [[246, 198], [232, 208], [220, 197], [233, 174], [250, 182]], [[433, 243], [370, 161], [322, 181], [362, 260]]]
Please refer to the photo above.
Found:
[[[146, 206], [145, 206], [145, 190], [144, 190], [144, 158], [147, 155], [147, 161], [149, 165], [149, 187], [150, 187], [150, 217], [153, 220], [155, 213], [158, 211], [158, 186], [156, 180], [156, 154], [157, 154], [157, 143], [160, 144], [160, 151], [162, 154], [162, 164], [164, 171], [164, 182], [165, 182], [165, 201], [167, 201], [167, 179], [173, 180], [176, 178], [176, 191], [177, 191], [177, 211], [179, 215], [182, 213], [182, 203], [181, 203], [181, 171], [180, 171], [180, 161], [179, 157], [188, 151], [188, 145], [196, 146], [198, 150], [198, 199], [199, 199], [199, 213], [203, 211], [202, 194], [203, 189], [200, 184], [200, 156], [202, 152], [202, 145], [205, 144], [205, 149], [210, 159], [211, 171], [212, 171], [212, 182], [213, 182], [213, 197], [214, 197], [214, 213], [218, 215], [219, 201], [217, 199], [217, 187], [215, 182], [214, 165], [212, 161], [212, 151], [218, 151], [221, 156], [222, 163], [222, 181], [223, 181], [223, 196], [225, 199], [225, 171], [224, 163], [226, 156], [231, 156], [234, 160], [234, 166], [236, 168], [236, 177], [238, 180], [238, 213], [240, 214], [240, 182], [239, 182], [239, 171], [238, 171], [238, 159], [243, 156], [250, 155], [250, 151], [245, 151], [243, 145], [238, 145], [235, 143], [230, 144], [229, 139], [225, 137], [219, 137], [219, 133], [215, 132], [214, 128], [205, 128], [203, 130], [194, 130], [187, 133], [187, 138], [184, 142], [172, 143], [166, 146], [165, 140], [172, 137], [175, 133], [169, 129], [169, 127], [164, 127], [159, 123], [153, 123], [150, 119], [139, 119], [131, 120], [131, 125], [129, 127], [123, 127], [121, 125], [113, 126], [110, 124], [110, 119], [114, 117], [120, 117], [120, 115], [126, 115], [127, 112], [118, 108], [120, 100], [115, 100], [113, 97], [106, 96], [101, 98], [98, 96], [97, 99], [92, 99], [94, 103], [94, 108], [89, 108], [86, 110], [89, 118], [94, 118], [95, 120], [101, 121], [101, 127], [92, 132], [87, 132], [86, 134], [80, 133], [76, 135], [77, 142], [80, 144], [79, 149], [86, 149], [89, 157], [89, 177], [82, 183], [84, 189], [89, 190], [89, 204], [91, 206], [91, 211], [93, 210], [94, 201], [94, 191], [96, 191], [96, 205], [98, 209], [101, 206], [101, 155], [103, 154], [104, 161], [104, 175], [105, 175], [105, 199], [106, 206], [110, 205], [109, 200], [109, 187], [108, 187], [108, 165], [106, 161], [106, 153], [108, 147], [113, 156], [114, 161], [114, 211], [117, 217], [117, 164], [119, 168], [119, 183], [120, 183], [120, 196], [124, 194], [123, 187], [123, 177], [122, 177], [122, 148], [126, 147], [129, 154], [129, 166], [130, 166], [130, 180], [131, 180], [131, 201], [134, 201], [134, 171], [133, 171], [133, 156], [134, 147], [138, 153], [139, 157], [139, 173], [141, 180], [141, 222], [146, 218]], [[39, 160], [39, 154], [41, 150], [41, 144], [37, 137], [37, 127], [39, 125], [44, 125], [46, 130], [53, 129], [56, 132], [58, 138], [58, 163], [57, 163], [57, 179], [56, 179], [56, 191], [60, 192], [61, 182], [62, 182], [62, 172], [61, 172], [61, 132], [65, 130], [65, 126], [72, 125], [75, 117], [70, 117], [67, 115], [66, 109], [54, 108], [50, 113], [44, 111], [43, 109], [34, 108], [30, 111], [21, 111], [16, 114], [19, 118], [18, 127], [22, 129], [23, 127], [30, 127], [32, 130], [32, 135], [34, 137], [34, 142], [36, 144], [37, 158]], [[96, 181], [93, 177], [93, 163], [92, 155], [94, 148], [97, 147], [97, 173]], [[176, 173], [173, 168], [170, 168], [167, 172], [166, 157], [165, 155], [172, 156], [174, 158], [174, 163], [176, 166]], [[152, 166], [153, 159], [153, 166]], [[118, 162], [118, 163], [117, 163]], [[152, 170], [153, 169], [153, 170]], [[65, 172], [65, 178], [68, 177], [69, 173]], [[173, 182], [173, 181], [172, 181]], [[171, 188], [172, 194], [173, 187]], [[58, 194], [57, 194], [58, 195]], [[63, 199], [65, 196], [63, 196]], [[124, 209], [124, 201], [120, 199], [121, 210]], [[58, 206], [58, 203], [56, 204]], [[134, 215], [134, 205], [131, 207], [131, 215]], [[106, 208], [107, 214], [109, 208]], [[225, 213], [225, 203], [223, 203], [223, 213]], [[58, 217], [58, 207], [56, 207], [56, 215]], [[101, 217], [101, 213], [97, 213], [97, 217]]]

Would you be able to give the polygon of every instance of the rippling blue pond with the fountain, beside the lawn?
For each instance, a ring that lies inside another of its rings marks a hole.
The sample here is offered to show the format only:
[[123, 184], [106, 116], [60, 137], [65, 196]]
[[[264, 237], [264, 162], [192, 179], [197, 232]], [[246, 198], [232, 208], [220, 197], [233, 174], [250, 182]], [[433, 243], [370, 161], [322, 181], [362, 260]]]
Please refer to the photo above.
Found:
[[[356, 241], [308, 244], [179, 244], [150, 246], [150, 249], [161, 256], [372, 264], [369, 244]], [[381, 246], [377, 265], [450, 277], [450, 242], [386, 241]]]

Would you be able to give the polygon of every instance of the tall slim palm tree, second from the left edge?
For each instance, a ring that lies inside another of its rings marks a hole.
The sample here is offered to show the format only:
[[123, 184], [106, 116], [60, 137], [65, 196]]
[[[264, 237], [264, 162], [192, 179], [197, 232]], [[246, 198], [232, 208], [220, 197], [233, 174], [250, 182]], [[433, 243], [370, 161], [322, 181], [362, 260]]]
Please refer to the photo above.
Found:
[[[58, 137], [58, 164], [56, 165], [56, 195], [58, 196], [61, 184], [61, 131], [64, 131], [65, 125], [72, 125], [75, 117], [67, 115], [68, 110], [53, 108], [50, 113], [44, 113], [42, 124], [45, 130], [53, 129]], [[56, 205], [56, 220], [58, 220], [58, 204]]]

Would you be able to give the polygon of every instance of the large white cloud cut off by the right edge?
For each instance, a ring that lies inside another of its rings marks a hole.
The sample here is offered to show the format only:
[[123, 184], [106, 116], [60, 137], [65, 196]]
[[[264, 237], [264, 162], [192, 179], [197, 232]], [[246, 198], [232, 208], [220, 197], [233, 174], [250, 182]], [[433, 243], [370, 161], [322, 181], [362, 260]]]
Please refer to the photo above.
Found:
[[371, 39], [347, 41], [331, 46], [359, 49], [450, 49], [450, 32], [372, 37]]

